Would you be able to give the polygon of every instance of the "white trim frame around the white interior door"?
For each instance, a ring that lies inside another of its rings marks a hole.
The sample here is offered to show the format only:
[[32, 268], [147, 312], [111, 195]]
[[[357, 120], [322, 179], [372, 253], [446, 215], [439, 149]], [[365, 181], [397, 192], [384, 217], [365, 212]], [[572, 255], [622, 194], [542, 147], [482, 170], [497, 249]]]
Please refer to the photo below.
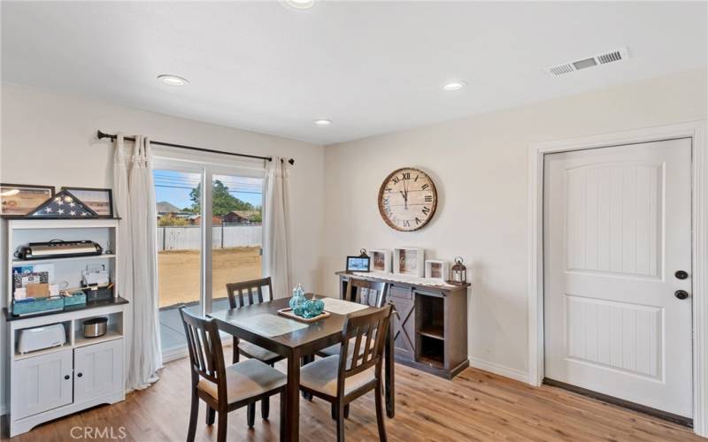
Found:
[[706, 121], [531, 144], [528, 155], [528, 383], [543, 383], [543, 156], [691, 138], [693, 223], [693, 430], [708, 438], [708, 148]]

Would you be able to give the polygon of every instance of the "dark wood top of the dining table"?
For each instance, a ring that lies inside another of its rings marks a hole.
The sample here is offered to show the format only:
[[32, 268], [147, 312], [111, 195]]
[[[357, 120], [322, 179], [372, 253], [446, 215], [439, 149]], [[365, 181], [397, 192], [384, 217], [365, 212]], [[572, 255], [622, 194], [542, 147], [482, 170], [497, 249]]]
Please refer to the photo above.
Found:
[[344, 327], [346, 316], [335, 313], [330, 313], [329, 317], [315, 323], [307, 324], [306, 328], [278, 336], [264, 336], [240, 324], [241, 320], [256, 315], [279, 316], [278, 309], [287, 308], [289, 301], [289, 298], [277, 299], [239, 309], [219, 310], [208, 316], [219, 322], [221, 330], [282, 355], [288, 355], [293, 348], [299, 349], [301, 354], [308, 354], [308, 352], [315, 352], [340, 342], [340, 333]]

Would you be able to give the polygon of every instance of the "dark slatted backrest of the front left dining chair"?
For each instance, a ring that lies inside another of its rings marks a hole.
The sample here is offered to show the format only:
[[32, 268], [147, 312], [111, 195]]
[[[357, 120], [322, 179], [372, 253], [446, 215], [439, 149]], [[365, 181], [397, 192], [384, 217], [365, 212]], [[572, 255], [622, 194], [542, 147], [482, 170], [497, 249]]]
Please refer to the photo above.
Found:
[[180, 308], [180, 316], [187, 335], [193, 385], [199, 382], [199, 377], [204, 377], [217, 385], [219, 398], [223, 390], [226, 399], [226, 371], [219, 327], [213, 319], [194, 316], [184, 306]]

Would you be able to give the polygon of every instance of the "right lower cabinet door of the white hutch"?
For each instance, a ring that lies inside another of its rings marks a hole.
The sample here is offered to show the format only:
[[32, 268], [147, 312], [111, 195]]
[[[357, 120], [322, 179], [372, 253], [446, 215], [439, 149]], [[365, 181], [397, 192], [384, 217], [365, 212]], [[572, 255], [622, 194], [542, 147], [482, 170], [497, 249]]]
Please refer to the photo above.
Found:
[[74, 401], [81, 403], [123, 385], [123, 339], [114, 339], [73, 351]]

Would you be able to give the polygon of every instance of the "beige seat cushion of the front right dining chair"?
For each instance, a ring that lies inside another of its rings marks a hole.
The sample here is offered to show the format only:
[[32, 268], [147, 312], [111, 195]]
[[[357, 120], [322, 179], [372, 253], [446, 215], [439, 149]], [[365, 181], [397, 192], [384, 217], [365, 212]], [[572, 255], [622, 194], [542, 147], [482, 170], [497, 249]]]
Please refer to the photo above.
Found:
[[[371, 367], [354, 376], [347, 377], [344, 381], [344, 394], [347, 395], [375, 379], [374, 370], [375, 367]], [[339, 355], [318, 359], [300, 369], [300, 385], [329, 396], [336, 396], [338, 372]]]

